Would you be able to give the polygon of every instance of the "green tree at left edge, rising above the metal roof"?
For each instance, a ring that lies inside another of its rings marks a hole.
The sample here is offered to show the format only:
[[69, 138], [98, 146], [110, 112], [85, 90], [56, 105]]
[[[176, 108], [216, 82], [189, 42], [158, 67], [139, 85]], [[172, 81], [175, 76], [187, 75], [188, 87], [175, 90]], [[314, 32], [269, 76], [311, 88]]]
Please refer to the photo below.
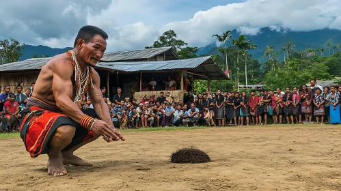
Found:
[[19, 58], [24, 55], [23, 46], [17, 40], [0, 40], [0, 64], [19, 61]]

